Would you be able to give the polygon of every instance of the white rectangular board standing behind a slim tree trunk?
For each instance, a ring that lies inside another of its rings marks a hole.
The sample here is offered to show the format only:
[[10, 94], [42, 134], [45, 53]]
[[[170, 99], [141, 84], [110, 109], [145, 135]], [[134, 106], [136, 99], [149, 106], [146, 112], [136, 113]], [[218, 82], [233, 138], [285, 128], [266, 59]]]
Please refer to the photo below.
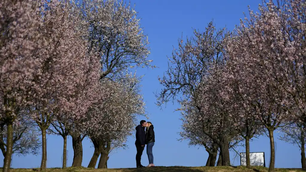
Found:
[[[240, 164], [242, 166], [246, 166], [247, 163], [246, 153], [240, 153]], [[251, 166], [264, 166], [266, 167], [265, 163], [265, 153], [264, 152], [250, 152], [250, 164]]]

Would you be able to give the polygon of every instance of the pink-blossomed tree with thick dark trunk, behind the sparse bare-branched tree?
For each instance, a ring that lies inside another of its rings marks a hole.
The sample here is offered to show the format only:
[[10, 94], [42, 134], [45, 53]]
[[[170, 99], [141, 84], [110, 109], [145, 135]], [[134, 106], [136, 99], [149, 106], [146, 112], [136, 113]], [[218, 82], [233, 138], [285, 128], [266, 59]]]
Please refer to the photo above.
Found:
[[[222, 166], [230, 166], [228, 143], [239, 134], [242, 128], [237, 120], [235, 99], [226, 95], [226, 74], [224, 67], [218, 65], [210, 69], [197, 89], [195, 113], [203, 133], [220, 147]], [[223, 80], [222, 80], [223, 79]]]

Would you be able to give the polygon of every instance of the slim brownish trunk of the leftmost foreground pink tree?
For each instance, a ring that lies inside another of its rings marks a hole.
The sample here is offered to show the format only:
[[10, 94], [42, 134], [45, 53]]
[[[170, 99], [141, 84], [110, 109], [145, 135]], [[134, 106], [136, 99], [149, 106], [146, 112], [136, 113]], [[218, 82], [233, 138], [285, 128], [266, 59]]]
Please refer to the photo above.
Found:
[[9, 172], [13, 154], [13, 122], [7, 123], [7, 143], [6, 155], [3, 162], [2, 172]]

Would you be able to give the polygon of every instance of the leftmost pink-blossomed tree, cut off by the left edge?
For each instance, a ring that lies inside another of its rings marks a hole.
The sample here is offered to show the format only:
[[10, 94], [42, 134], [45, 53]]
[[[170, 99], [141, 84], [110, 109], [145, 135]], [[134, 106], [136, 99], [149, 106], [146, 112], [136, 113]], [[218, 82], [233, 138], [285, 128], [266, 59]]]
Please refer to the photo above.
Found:
[[36, 13], [39, 1], [4, 0], [0, 2], [0, 121], [7, 127], [7, 147], [3, 171], [9, 171], [13, 153], [13, 124], [21, 106], [31, 95], [29, 80], [39, 62], [32, 58], [33, 50], [41, 45]]

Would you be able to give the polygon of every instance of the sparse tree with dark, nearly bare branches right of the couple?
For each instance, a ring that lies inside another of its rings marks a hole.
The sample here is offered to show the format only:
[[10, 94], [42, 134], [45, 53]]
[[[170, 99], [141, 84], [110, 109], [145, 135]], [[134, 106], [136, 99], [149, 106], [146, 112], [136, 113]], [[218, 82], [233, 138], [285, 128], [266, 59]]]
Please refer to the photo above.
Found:
[[[228, 36], [230, 34], [225, 31], [225, 28], [217, 31], [210, 22], [203, 33], [194, 31], [194, 37], [187, 38], [185, 45], [183, 39], [179, 39], [178, 49], [175, 49], [169, 58], [170, 63], [166, 75], [159, 77], [160, 84], [164, 88], [156, 95], [157, 105], [161, 106], [169, 101], [177, 100], [181, 104], [187, 102], [179, 110], [189, 110], [195, 107], [196, 103], [201, 100], [198, 98], [199, 92], [197, 91], [199, 84], [205, 84], [204, 79], [208, 75], [209, 68], [213, 64], [218, 65], [225, 61], [223, 59], [223, 40]], [[181, 98], [178, 98], [180, 96]], [[196, 111], [196, 115], [200, 115]], [[203, 125], [204, 123], [208, 125], [209, 121], [202, 122]], [[226, 142], [228, 143], [229, 140]], [[229, 156], [224, 158], [223, 163], [230, 165]]]

